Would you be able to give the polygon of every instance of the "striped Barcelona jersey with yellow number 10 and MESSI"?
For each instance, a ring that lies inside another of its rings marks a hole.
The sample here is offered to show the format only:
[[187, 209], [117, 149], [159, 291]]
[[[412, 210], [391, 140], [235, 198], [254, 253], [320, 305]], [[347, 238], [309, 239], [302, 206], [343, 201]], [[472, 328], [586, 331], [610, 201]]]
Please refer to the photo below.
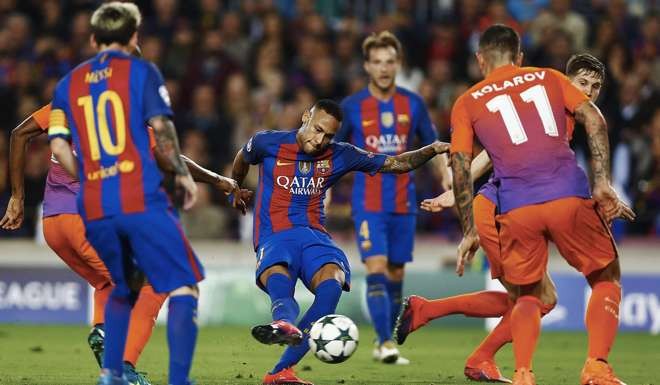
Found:
[[83, 219], [169, 206], [146, 126], [171, 116], [169, 104], [158, 69], [121, 51], [100, 52], [57, 84], [48, 135], [73, 141]]

